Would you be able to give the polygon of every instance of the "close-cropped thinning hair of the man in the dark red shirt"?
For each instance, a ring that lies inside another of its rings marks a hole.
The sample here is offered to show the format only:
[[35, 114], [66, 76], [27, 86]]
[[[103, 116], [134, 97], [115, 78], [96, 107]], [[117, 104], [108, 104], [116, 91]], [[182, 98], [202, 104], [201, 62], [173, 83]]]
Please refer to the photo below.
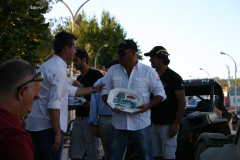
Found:
[[26, 61], [13, 59], [0, 65], [0, 92], [11, 94], [13, 90], [34, 76], [36, 70]]

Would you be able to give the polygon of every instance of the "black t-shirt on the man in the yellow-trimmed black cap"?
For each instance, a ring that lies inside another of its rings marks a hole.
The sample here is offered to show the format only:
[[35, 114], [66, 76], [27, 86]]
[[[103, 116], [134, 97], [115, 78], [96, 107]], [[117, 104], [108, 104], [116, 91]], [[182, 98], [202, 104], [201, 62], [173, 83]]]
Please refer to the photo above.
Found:
[[[157, 106], [151, 108], [151, 121], [154, 124], [172, 124], [176, 118], [178, 100], [175, 95], [176, 90], [182, 90], [183, 80], [182, 77], [167, 68], [166, 71], [160, 76], [164, 86], [167, 99]], [[151, 94], [151, 99], [153, 94]]]

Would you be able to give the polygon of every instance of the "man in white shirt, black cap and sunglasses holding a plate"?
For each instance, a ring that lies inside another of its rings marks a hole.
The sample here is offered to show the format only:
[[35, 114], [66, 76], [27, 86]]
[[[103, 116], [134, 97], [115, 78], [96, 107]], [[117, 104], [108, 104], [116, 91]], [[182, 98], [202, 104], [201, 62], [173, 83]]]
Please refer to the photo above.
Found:
[[[153, 143], [149, 109], [166, 99], [162, 82], [153, 68], [140, 63], [136, 58], [137, 45], [134, 41], [125, 40], [114, 48], [118, 48], [120, 64], [112, 66], [105, 76], [103, 101], [107, 104], [111, 89], [126, 88], [138, 91], [143, 96], [143, 105], [138, 106], [139, 111], [135, 113], [120, 112], [117, 107], [113, 109], [108, 159], [121, 160], [131, 139], [140, 159], [152, 160]], [[154, 94], [151, 102], [150, 93]]]

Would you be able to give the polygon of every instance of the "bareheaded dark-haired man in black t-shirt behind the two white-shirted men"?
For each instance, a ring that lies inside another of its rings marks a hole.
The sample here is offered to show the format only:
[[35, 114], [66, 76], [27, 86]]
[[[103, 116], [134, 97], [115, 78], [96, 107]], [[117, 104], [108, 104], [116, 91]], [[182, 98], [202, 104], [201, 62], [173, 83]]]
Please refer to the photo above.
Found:
[[[103, 75], [100, 71], [88, 67], [88, 54], [86, 51], [78, 49], [73, 58], [73, 64], [81, 75], [77, 77], [81, 86], [93, 87], [93, 84]], [[69, 157], [73, 160], [82, 159], [84, 152], [87, 153], [88, 160], [96, 160], [98, 141], [92, 134], [92, 126], [88, 124], [89, 107], [91, 94], [84, 96], [86, 103], [76, 110], [76, 119], [73, 122], [73, 130], [70, 140]]]

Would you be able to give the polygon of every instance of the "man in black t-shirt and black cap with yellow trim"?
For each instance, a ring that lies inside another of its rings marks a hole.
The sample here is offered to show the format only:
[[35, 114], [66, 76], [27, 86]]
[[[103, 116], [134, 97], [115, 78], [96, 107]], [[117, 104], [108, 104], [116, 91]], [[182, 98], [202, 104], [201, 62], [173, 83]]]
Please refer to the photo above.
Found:
[[164, 86], [167, 99], [151, 108], [154, 160], [175, 159], [178, 125], [185, 109], [183, 80], [168, 67], [168, 52], [162, 46], [154, 47], [145, 56], [150, 56]]

